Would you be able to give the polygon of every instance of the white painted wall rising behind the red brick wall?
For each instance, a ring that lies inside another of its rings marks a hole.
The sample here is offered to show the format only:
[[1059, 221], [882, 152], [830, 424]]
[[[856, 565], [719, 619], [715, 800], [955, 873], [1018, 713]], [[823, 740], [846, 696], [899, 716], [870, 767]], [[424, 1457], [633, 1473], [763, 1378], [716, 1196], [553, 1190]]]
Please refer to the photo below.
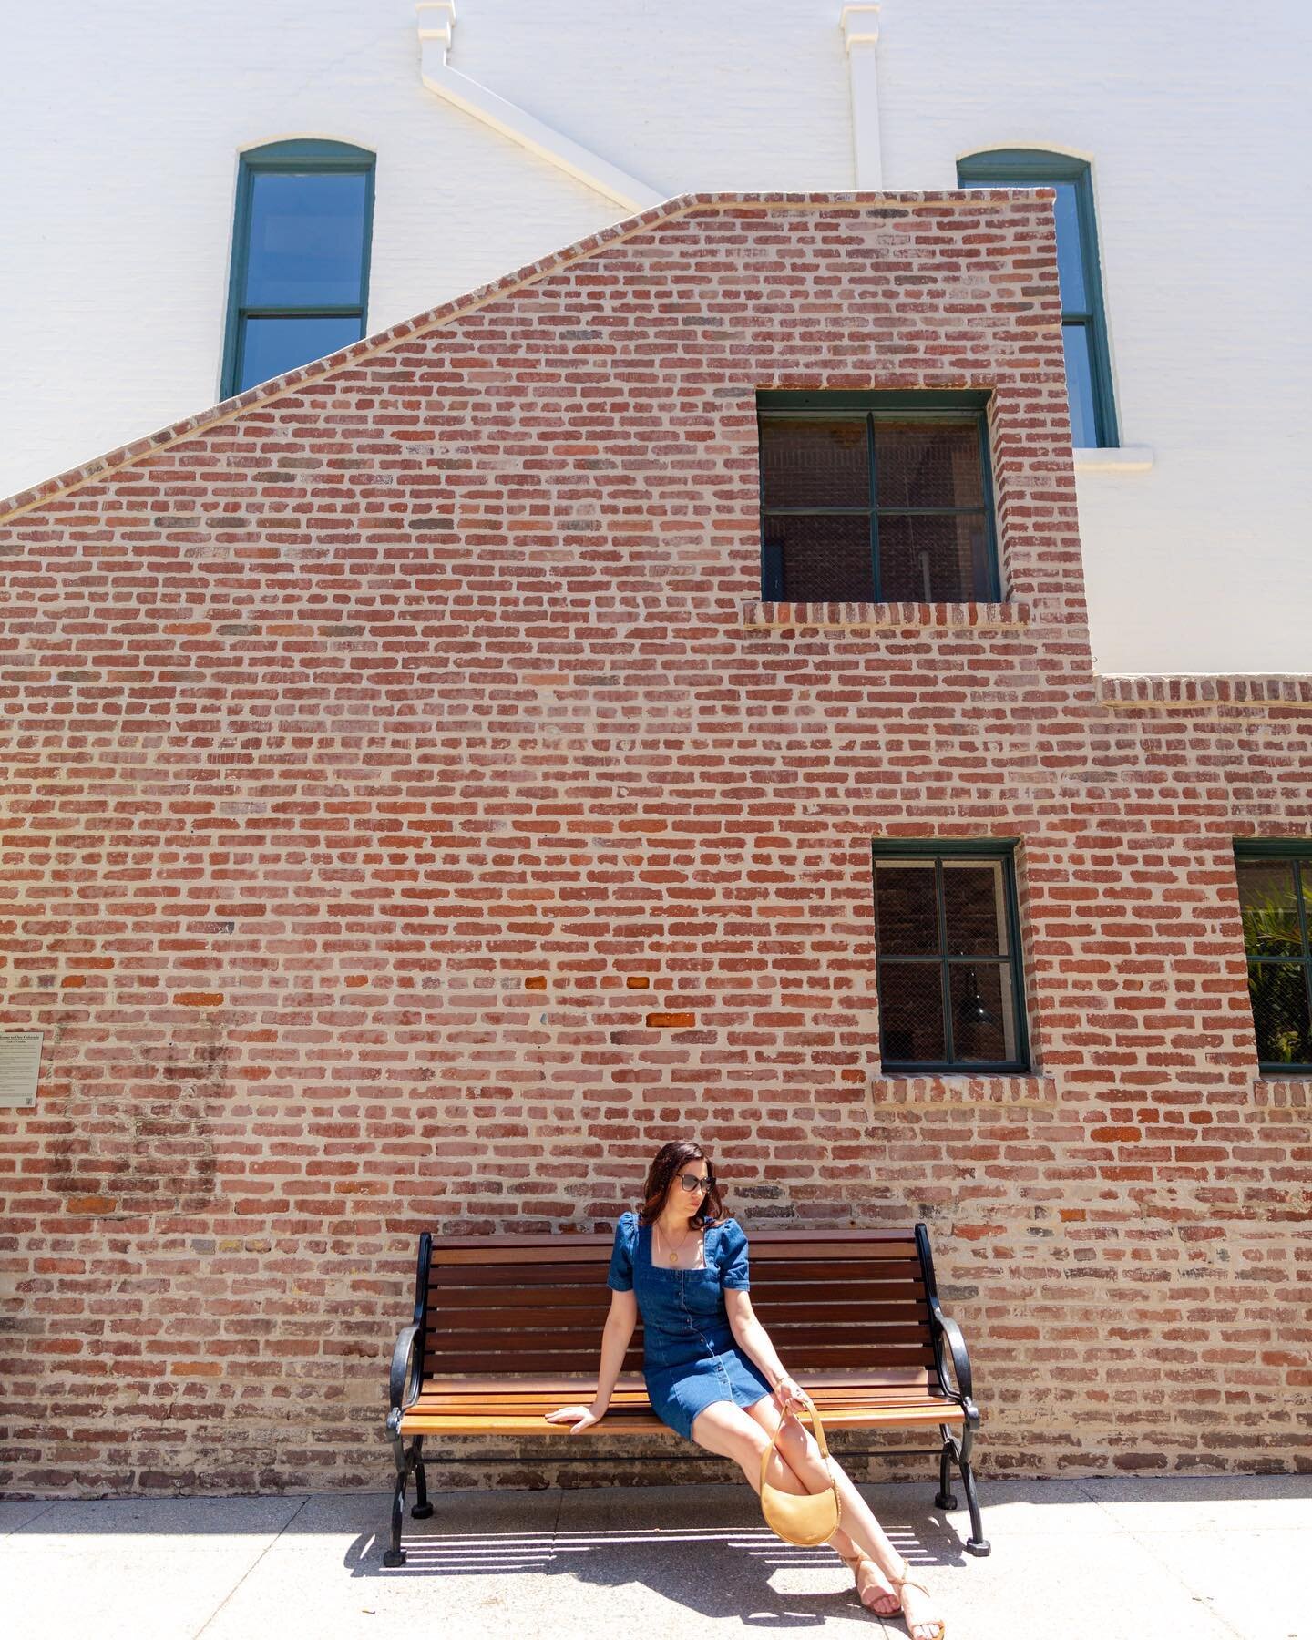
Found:
[[[451, 64], [666, 194], [853, 185], [838, 0], [459, 0]], [[369, 328], [623, 212], [425, 90], [410, 0], [11, 7], [0, 494], [218, 397], [243, 148], [377, 153]], [[1309, 671], [1312, 28], [1297, 0], [884, 0], [884, 184], [1094, 166], [1117, 412], [1079, 476], [1105, 671]], [[1297, 400], [1296, 402], [1296, 395]]]

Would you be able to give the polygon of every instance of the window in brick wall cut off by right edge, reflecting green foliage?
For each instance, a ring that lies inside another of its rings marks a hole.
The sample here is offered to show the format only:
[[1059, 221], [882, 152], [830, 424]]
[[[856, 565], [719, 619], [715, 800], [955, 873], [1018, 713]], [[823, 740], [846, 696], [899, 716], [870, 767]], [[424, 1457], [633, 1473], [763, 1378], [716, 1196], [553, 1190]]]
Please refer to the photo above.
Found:
[[1312, 838], [1237, 843], [1248, 1000], [1263, 1071], [1312, 1074]]

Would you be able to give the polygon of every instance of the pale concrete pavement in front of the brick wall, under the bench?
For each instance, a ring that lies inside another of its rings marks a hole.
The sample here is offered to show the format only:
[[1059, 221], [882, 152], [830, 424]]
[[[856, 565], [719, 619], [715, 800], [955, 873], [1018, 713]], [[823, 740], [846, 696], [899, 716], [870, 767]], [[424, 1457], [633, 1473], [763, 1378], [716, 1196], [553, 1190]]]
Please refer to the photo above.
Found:
[[[1312, 1476], [986, 1483], [987, 1560], [933, 1484], [864, 1486], [950, 1640], [1312, 1640]], [[8, 1640], [905, 1637], [746, 1486], [448, 1492], [382, 1563], [387, 1494], [0, 1502]], [[961, 1533], [961, 1535], [958, 1535]]]

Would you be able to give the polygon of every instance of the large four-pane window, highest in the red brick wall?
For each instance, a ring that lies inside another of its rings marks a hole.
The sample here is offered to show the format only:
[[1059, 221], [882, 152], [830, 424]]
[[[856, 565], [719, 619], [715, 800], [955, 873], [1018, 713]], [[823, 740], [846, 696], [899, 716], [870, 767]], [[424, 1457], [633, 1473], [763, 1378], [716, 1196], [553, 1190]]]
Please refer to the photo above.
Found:
[[761, 597], [999, 597], [984, 395], [758, 394]]

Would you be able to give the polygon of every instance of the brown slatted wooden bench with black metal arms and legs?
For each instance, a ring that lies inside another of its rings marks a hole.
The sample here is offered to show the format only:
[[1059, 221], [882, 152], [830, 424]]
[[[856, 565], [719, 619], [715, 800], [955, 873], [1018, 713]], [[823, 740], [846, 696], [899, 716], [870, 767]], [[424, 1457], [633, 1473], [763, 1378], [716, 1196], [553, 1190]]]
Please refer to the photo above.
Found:
[[[979, 1428], [971, 1363], [961, 1328], [938, 1304], [925, 1225], [748, 1235], [753, 1309], [825, 1427], [936, 1430], [935, 1504], [958, 1507], [948, 1491], [956, 1465], [971, 1512], [966, 1548], [987, 1555], [971, 1473]], [[420, 1237], [415, 1319], [397, 1340], [389, 1386], [397, 1484], [385, 1566], [405, 1563], [410, 1474], [412, 1515], [433, 1514], [423, 1473], [428, 1437], [569, 1435], [569, 1425], [543, 1414], [595, 1394], [610, 1246], [610, 1235]], [[597, 1433], [677, 1438], [646, 1399], [641, 1317]], [[582, 1443], [590, 1438], [574, 1437], [569, 1458], [589, 1456]]]

